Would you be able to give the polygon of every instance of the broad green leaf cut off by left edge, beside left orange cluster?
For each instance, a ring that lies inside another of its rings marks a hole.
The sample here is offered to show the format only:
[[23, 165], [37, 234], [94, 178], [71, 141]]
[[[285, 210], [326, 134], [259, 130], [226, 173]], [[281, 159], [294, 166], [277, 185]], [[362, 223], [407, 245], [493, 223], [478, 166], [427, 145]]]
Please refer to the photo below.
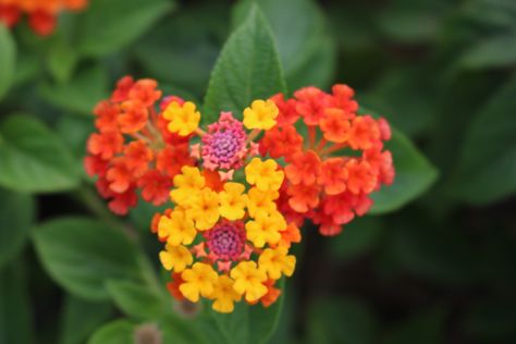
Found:
[[63, 142], [38, 120], [11, 115], [0, 126], [0, 185], [30, 193], [79, 183], [79, 167]]

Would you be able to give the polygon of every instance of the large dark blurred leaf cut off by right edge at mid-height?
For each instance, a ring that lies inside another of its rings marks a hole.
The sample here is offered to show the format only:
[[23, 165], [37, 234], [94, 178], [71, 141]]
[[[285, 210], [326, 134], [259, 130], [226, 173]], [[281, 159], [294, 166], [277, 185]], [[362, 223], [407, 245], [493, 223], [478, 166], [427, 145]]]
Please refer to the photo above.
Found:
[[503, 86], [469, 123], [456, 174], [455, 195], [488, 204], [516, 191], [516, 77]]

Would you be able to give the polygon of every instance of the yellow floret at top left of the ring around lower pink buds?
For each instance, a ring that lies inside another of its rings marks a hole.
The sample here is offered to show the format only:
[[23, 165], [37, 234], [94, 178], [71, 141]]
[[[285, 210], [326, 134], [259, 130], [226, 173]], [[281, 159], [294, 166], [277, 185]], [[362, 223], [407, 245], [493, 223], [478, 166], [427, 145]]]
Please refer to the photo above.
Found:
[[174, 176], [174, 189], [170, 193], [173, 201], [181, 206], [188, 207], [195, 202], [198, 191], [206, 184], [205, 177], [199, 169], [183, 167], [181, 174]]

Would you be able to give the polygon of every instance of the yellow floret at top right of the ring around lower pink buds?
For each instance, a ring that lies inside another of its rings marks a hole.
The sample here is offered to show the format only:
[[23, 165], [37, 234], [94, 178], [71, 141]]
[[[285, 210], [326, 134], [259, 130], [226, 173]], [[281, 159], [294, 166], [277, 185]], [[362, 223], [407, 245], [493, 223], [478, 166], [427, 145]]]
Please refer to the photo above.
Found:
[[277, 191], [283, 183], [283, 171], [277, 171], [278, 163], [272, 159], [261, 161], [259, 158], [254, 158], [245, 167], [245, 177], [247, 182], [261, 192]]

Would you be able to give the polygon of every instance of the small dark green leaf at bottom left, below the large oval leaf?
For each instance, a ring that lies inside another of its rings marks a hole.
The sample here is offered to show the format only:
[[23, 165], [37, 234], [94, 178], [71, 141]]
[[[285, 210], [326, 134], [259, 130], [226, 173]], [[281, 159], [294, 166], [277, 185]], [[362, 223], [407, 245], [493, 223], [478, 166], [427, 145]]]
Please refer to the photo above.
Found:
[[109, 303], [66, 295], [61, 319], [60, 344], [81, 344], [113, 315]]

